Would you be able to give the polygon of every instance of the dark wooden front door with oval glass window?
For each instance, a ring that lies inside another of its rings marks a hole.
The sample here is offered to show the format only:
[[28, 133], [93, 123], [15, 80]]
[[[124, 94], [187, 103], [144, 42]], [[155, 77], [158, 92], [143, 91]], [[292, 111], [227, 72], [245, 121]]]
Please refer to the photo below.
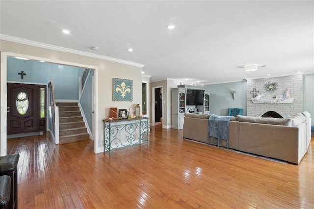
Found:
[[45, 131], [46, 113], [42, 117], [40, 91], [45, 89], [45, 97], [46, 86], [19, 83], [8, 83], [7, 86], [7, 134]]

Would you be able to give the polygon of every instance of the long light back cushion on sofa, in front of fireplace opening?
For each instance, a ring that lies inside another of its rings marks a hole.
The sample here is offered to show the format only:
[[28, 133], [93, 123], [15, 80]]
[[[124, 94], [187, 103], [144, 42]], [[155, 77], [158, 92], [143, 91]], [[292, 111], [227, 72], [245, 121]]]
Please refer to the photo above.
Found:
[[289, 118], [262, 118], [262, 117], [238, 115], [237, 120], [239, 122], [249, 122], [249, 123], [262, 123], [262, 124], [272, 124], [272, 125], [282, 125], [282, 126], [292, 125], [292, 120]]

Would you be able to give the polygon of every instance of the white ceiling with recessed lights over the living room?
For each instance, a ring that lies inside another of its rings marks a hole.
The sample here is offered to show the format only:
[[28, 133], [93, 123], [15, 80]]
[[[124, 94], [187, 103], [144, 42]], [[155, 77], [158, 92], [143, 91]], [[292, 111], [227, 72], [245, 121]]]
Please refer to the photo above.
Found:
[[[1, 37], [143, 64], [151, 81], [209, 84], [314, 73], [313, 1], [1, 0], [0, 7]], [[247, 64], [267, 67], [239, 68]]]

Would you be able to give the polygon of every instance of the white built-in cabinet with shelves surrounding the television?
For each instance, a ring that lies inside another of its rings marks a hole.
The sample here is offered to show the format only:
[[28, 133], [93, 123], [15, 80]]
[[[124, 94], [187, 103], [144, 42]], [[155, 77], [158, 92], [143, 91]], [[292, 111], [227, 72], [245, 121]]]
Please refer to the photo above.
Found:
[[[204, 91], [204, 103], [202, 106], [187, 106], [186, 105], [186, 90], [187, 89], [200, 89]], [[187, 108], [197, 108], [198, 112], [194, 114], [206, 114], [209, 113], [209, 91], [206, 87], [180, 85], [177, 88], [171, 89], [171, 128], [183, 129], [184, 113]]]

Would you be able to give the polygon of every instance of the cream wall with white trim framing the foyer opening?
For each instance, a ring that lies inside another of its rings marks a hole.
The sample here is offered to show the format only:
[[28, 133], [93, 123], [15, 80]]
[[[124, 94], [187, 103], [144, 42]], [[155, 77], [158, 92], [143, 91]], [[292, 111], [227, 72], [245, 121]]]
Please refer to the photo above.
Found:
[[[1, 50], [1, 78], [0, 78], [0, 127], [1, 127], [1, 156], [6, 155], [6, 58], [9, 54], [31, 59], [41, 59], [48, 62], [55, 62], [78, 67], [95, 69], [95, 128], [94, 152], [103, 152], [103, 119], [109, 115], [110, 107], [126, 109], [129, 105], [142, 103], [142, 67], [139, 64], [126, 64], [107, 61], [99, 58], [92, 58], [69, 52], [60, 52], [47, 48], [35, 47], [11, 41], [0, 41]], [[114, 102], [112, 101], [112, 78], [133, 80], [133, 101]], [[139, 93], [136, 93], [139, 92]]]

